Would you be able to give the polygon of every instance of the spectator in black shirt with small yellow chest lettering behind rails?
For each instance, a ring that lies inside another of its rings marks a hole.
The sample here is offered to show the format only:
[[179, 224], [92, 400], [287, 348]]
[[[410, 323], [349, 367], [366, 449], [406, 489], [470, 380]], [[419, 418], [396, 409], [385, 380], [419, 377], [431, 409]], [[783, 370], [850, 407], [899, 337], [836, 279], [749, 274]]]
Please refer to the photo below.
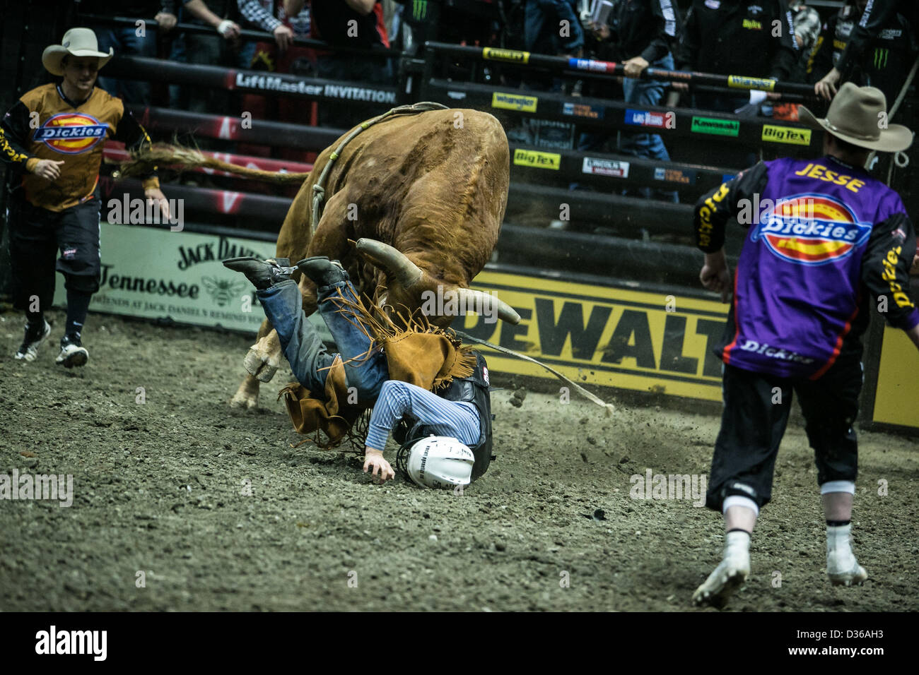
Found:
[[[788, 80], [799, 52], [792, 22], [786, 0], [758, 0], [755, 4], [746, 0], [692, 0], [676, 53], [676, 67]], [[777, 37], [774, 26], [780, 31]], [[674, 87], [687, 88], [683, 83]], [[694, 96], [694, 106], [733, 113], [749, 100], [749, 95], [699, 91]]]

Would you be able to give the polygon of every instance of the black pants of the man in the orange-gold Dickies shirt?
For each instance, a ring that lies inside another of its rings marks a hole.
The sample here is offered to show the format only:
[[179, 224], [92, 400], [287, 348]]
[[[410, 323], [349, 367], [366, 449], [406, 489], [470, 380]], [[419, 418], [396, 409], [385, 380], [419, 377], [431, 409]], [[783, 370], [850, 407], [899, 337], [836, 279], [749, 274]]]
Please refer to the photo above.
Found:
[[55, 270], [63, 274], [68, 290], [92, 294], [99, 289], [98, 199], [62, 211], [35, 207], [17, 196], [11, 196], [8, 203], [9, 257], [17, 309], [28, 309], [32, 296], [39, 298], [40, 311], [51, 308]]

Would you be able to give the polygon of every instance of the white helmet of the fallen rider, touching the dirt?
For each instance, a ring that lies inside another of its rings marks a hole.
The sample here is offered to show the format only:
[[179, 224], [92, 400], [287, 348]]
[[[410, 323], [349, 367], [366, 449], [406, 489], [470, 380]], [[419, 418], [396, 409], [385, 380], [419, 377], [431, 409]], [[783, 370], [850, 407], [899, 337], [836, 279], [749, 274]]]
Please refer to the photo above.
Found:
[[411, 447], [403, 445], [396, 466], [422, 488], [453, 489], [471, 483], [475, 456], [468, 445], [450, 436], [430, 435]]

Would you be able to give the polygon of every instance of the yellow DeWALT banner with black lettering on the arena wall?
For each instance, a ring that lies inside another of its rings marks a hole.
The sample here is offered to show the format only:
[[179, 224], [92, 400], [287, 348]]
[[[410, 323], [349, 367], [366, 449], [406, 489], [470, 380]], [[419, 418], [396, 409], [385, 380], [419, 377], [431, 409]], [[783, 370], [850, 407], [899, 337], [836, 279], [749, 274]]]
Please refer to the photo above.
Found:
[[[539, 359], [577, 382], [721, 398], [721, 362], [711, 348], [727, 305], [487, 270], [472, 287], [494, 293], [521, 317], [514, 326], [469, 315], [462, 330], [475, 337]], [[495, 372], [554, 379], [504, 354], [488, 351], [487, 358]]]

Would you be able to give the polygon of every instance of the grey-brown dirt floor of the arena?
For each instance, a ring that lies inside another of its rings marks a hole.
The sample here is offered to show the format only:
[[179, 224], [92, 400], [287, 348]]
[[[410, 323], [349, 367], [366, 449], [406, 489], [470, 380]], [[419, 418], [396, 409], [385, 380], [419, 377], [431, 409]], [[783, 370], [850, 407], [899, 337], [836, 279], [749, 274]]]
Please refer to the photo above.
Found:
[[[0, 315], [0, 473], [72, 474], [74, 501], [0, 501], [0, 610], [690, 611], [719, 560], [716, 514], [630, 498], [648, 468], [708, 474], [715, 417], [606, 417], [534, 392], [515, 407], [506, 388], [493, 396], [497, 460], [470, 489], [376, 486], [355, 455], [291, 447], [280, 373], [265, 410], [230, 410], [251, 339], [93, 314], [91, 361], [67, 372], [52, 318], [52, 340], [24, 365], [12, 358], [21, 314]], [[919, 443], [862, 433], [860, 459], [868, 582], [825, 578], [811, 453], [794, 426], [728, 610], [919, 609]]]

